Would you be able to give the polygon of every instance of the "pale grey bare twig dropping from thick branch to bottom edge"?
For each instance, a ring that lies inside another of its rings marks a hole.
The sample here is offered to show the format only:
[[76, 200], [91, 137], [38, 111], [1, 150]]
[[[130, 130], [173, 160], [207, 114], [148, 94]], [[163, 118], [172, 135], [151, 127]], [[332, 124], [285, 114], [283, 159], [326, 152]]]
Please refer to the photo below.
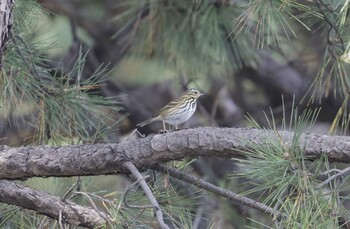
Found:
[[154, 211], [156, 214], [156, 218], [159, 224], [159, 227], [161, 229], [170, 229], [169, 226], [164, 222], [163, 219], [163, 213], [162, 210], [154, 197], [150, 187], [147, 185], [146, 181], [143, 179], [142, 174], [139, 172], [139, 170], [135, 167], [135, 165], [132, 162], [124, 162], [124, 167], [130, 171], [130, 173], [139, 180], [139, 184], [142, 187], [143, 191], [145, 192], [149, 202], [154, 206]]

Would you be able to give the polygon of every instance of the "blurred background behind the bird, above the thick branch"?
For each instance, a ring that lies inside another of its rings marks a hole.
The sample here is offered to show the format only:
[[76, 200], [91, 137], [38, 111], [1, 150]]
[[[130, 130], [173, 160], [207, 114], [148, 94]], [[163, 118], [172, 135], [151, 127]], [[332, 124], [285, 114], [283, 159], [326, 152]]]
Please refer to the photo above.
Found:
[[[278, 15], [275, 1], [266, 11], [259, 1], [257, 6], [220, 0], [39, 2], [47, 11], [38, 35], [54, 42], [47, 55], [62, 60], [66, 70], [82, 47], [88, 51], [83, 78], [101, 64], [112, 69], [101, 91], [120, 96], [129, 114], [119, 125], [118, 137], [188, 88], [206, 94], [188, 127], [247, 126], [247, 114], [266, 125], [263, 111], [272, 109], [278, 118], [283, 96], [287, 109], [293, 98], [302, 107], [322, 107], [316, 127], [327, 133], [343, 103], [333, 93], [323, 97], [316, 87], [307, 93], [329, 48], [316, 4], [286, 7]], [[248, 15], [249, 10], [256, 15]], [[304, 21], [290, 19], [284, 15], [288, 13], [303, 14]], [[308, 103], [310, 99], [317, 102]], [[155, 123], [141, 131], [159, 128]]]

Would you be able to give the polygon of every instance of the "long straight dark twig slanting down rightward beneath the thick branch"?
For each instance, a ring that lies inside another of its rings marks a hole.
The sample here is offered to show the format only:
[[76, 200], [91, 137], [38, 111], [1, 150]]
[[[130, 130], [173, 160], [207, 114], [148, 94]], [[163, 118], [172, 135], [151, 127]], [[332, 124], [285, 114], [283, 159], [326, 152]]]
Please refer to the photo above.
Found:
[[213, 185], [211, 183], [208, 183], [200, 178], [185, 174], [185, 173], [180, 172], [176, 169], [167, 168], [167, 167], [160, 165], [160, 164], [154, 166], [153, 168], [159, 172], [167, 173], [170, 176], [175, 177], [176, 179], [185, 181], [185, 182], [192, 184], [194, 186], [197, 186], [201, 189], [205, 189], [205, 190], [210, 191], [212, 193], [215, 193], [217, 195], [223, 196], [227, 199], [238, 201], [243, 205], [255, 208], [257, 210], [261, 210], [261, 211], [263, 211], [263, 212], [265, 212], [265, 213], [267, 213], [275, 218], [286, 217], [281, 212], [279, 212], [279, 211], [277, 211], [277, 210], [275, 210], [275, 209], [273, 209], [265, 204], [259, 203], [255, 200], [252, 200], [252, 199], [247, 198], [245, 196], [241, 196], [241, 195], [238, 195], [234, 192], [220, 188], [220, 187]]

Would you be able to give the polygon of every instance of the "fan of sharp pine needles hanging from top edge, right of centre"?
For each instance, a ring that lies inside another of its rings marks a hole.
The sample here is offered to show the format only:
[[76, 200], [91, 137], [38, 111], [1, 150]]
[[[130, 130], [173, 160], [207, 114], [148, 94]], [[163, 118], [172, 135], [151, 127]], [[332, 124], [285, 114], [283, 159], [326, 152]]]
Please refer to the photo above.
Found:
[[294, 0], [242, 1], [238, 7], [241, 13], [233, 20], [233, 31], [253, 38], [259, 49], [297, 37], [299, 25], [310, 31], [305, 19], [320, 17], [311, 4]]

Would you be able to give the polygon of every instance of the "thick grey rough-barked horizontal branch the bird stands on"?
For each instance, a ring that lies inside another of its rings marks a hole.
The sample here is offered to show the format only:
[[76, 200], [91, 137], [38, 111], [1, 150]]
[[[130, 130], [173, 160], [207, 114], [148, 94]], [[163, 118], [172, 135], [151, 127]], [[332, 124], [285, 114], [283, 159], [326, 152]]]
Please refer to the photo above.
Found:
[[[1, 146], [0, 179], [130, 173], [123, 166], [125, 161], [145, 170], [160, 162], [183, 158], [235, 158], [244, 154], [247, 142], [264, 144], [265, 139], [274, 136], [275, 132], [267, 130], [206, 127], [150, 135], [120, 144]], [[281, 131], [279, 136], [288, 145], [293, 133]], [[325, 154], [329, 161], [350, 163], [350, 137], [302, 134], [300, 148], [310, 159]]]

